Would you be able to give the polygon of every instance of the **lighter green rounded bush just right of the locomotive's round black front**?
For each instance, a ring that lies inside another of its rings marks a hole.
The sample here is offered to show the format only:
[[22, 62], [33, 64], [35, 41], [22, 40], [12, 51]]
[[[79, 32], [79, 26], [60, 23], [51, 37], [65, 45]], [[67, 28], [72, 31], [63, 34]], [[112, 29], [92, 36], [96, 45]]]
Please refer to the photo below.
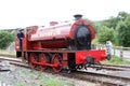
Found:
[[102, 26], [98, 30], [98, 38], [100, 43], [105, 43], [108, 40], [114, 41], [114, 29], [108, 28], [106, 26]]

